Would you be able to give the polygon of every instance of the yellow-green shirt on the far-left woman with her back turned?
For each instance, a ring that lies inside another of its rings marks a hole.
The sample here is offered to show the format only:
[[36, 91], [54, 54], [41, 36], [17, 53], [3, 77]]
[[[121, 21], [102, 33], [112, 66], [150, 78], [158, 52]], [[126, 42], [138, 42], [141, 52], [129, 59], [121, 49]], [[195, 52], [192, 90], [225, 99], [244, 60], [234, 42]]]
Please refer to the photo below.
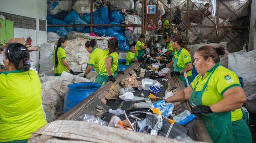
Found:
[[38, 74], [0, 72], [0, 142], [28, 139], [46, 124]]

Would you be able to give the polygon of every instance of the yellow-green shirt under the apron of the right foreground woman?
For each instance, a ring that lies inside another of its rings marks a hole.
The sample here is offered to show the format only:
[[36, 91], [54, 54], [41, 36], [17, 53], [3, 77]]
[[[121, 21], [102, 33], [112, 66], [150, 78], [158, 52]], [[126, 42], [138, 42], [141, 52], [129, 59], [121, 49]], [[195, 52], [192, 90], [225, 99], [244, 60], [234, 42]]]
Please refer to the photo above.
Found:
[[[223, 94], [226, 90], [230, 89], [231, 87], [241, 86], [241, 84], [239, 83], [239, 79], [236, 76], [236, 73], [219, 64], [220, 63], [215, 64], [215, 66], [218, 67], [209, 79], [208, 84], [202, 95], [203, 105], [215, 104], [216, 102], [221, 101], [224, 98]], [[201, 91], [214, 67], [212, 67], [207, 71], [207, 73], [205, 73], [204, 78], [198, 74], [198, 76], [195, 77], [194, 81], [192, 81], [190, 85], [192, 89], [194, 89], [195, 91]], [[242, 118], [242, 115], [243, 114], [240, 108], [231, 111], [231, 121], [240, 120]]]

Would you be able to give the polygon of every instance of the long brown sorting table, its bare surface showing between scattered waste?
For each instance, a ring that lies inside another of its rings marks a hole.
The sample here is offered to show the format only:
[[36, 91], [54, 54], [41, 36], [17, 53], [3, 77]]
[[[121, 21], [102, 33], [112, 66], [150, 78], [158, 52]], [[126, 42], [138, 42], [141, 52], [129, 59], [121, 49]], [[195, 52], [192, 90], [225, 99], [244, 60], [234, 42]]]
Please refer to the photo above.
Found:
[[[73, 109], [70, 109], [67, 113], [59, 117], [59, 120], [81, 120], [81, 116], [84, 114], [87, 115], [94, 115], [96, 117], [102, 118], [105, 121], [110, 120], [111, 114], [108, 113], [108, 109], [128, 109], [131, 104], [136, 103], [136, 101], [121, 101], [120, 99], [117, 100], [110, 100], [107, 102], [107, 104], [104, 104], [101, 100], [104, 98], [102, 93], [104, 91], [109, 91], [110, 89], [113, 89], [113, 87], [120, 87], [119, 82], [122, 81], [122, 79], [125, 79], [129, 76], [131, 76], [132, 73], [134, 73], [134, 68], [138, 69], [140, 66], [140, 62], [135, 62], [130, 67], [126, 68], [124, 70], [125, 75], [119, 74], [116, 76], [116, 82], [108, 82], [98, 90], [96, 90], [94, 93], [92, 93], [90, 96], [88, 96], [86, 99], [81, 101], [78, 105], [76, 105]], [[137, 72], [137, 76], [139, 76], [139, 71]], [[144, 78], [148, 78], [145, 74]], [[172, 77], [170, 76], [170, 73], [166, 75], [168, 81], [162, 81], [160, 79], [156, 79], [163, 85], [163, 90], [161, 93], [159, 93], [159, 97], [163, 97], [165, 90], [167, 88], [177, 87], [177, 91], [180, 91], [185, 88], [184, 84], [178, 76]], [[141, 79], [138, 79], [141, 80]], [[135, 90], [136, 93], [134, 95], [140, 95], [140, 93], [143, 93], [145, 96], [148, 96], [150, 91], [145, 90]], [[144, 96], [144, 97], [145, 97]], [[104, 108], [103, 112], [97, 112], [96, 106], [99, 105]], [[180, 112], [183, 112], [184, 110], [191, 110], [190, 105], [187, 101], [185, 102], [176, 102], [175, 105], [175, 113], [178, 114]], [[122, 119], [122, 118], [121, 118]], [[201, 118], [197, 116], [193, 121], [187, 123], [185, 127], [188, 129], [188, 135], [191, 137], [194, 141], [201, 141], [201, 142], [208, 142], [212, 143], [212, 140], [209, 137], [209, 134], [204, 126], [204, 123], [201, 121]]]

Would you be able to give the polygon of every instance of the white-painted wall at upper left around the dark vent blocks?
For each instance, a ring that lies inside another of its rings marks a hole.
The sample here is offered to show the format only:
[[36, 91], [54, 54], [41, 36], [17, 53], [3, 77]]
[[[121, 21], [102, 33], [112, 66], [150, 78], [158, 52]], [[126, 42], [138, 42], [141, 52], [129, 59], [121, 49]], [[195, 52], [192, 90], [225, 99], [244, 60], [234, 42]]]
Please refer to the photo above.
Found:
[[[32, 45], [40, 46], [47, 42], [46, 31], [39, 31], [39, 19], [46, 20], [47, 0], [1, 0], [0, 11], [36, 18], [36, 30], [14, 28], [14, 38], [27, 36], [32, 38]], [[39, 52], [31, 52], [35, 66], [38, 68]]]

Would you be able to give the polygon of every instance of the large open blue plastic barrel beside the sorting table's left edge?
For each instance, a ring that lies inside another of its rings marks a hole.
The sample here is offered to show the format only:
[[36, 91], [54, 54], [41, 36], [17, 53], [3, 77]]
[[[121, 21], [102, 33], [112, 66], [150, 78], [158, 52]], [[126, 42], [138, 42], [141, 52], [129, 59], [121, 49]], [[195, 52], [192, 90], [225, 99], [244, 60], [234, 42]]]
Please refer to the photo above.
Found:
[[100, 84], [93, 82], [79, 82], [74, 84], [69, 84], [67, 86], [67, 95], [64, 99], [64, 112], [69, 111], [71, 108], [75, 107], [76, 104], [83, 101], [94, 91], [101, 87]]

